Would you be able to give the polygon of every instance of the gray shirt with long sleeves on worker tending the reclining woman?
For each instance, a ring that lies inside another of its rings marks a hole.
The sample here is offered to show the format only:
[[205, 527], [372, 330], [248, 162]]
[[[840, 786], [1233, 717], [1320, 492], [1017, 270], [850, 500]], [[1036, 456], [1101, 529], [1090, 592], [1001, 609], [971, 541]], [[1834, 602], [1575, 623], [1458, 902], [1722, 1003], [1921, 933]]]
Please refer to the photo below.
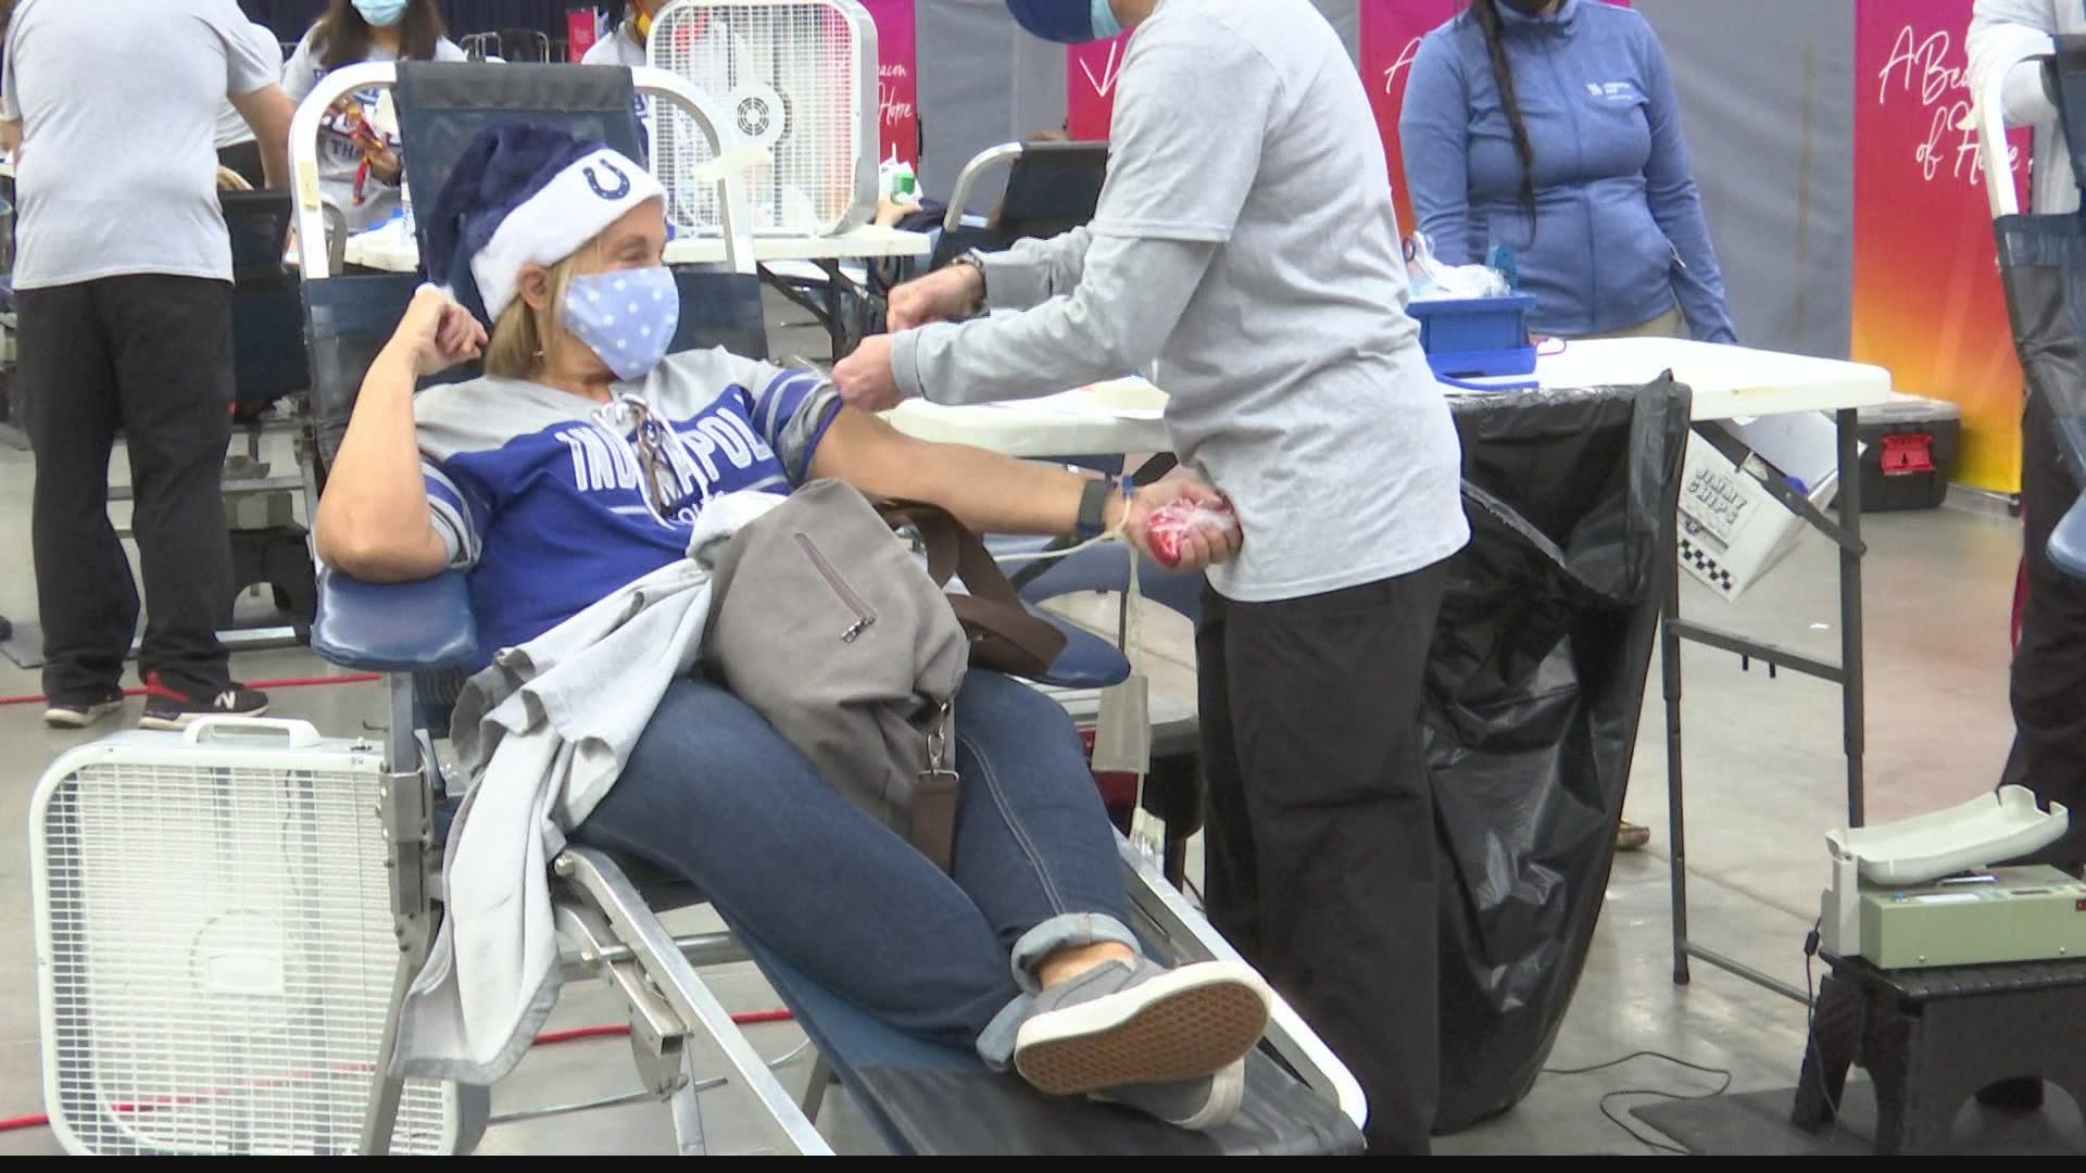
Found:
[[991, 257], [987, 296], [1022, 313], [899, 334], [899, 386], [1024, 399], [1162, 359], [1174, 449], [1245, 526], [1210, 572], [1224, 597], [1377, 582], [1469, 541], [1383, 140], [1308, 0], [1166, 0], [1122, 65], [1091, 230]]

